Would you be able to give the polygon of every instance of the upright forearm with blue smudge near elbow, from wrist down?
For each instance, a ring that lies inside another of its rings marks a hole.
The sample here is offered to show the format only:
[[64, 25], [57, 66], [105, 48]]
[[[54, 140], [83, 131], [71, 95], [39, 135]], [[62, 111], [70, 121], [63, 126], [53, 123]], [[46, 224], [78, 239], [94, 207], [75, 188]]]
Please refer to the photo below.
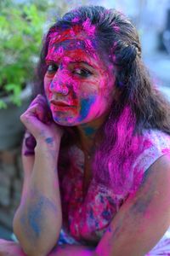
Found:
[[37, 143], [29, 189], [14, 218], [14, 233], [27, 255], [47, 255], [59, 237], [58, 154], [59, 148]]

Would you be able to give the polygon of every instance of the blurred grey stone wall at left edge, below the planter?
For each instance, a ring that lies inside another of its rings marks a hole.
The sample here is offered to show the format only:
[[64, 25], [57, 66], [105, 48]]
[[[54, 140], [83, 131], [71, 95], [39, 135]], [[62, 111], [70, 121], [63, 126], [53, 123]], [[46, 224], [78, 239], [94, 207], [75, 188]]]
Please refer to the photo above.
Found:
[[20, 148], [0, 151], [0, 238], [5, 228], [12, 233], [14, 212], [20, 204], [23, 166]]

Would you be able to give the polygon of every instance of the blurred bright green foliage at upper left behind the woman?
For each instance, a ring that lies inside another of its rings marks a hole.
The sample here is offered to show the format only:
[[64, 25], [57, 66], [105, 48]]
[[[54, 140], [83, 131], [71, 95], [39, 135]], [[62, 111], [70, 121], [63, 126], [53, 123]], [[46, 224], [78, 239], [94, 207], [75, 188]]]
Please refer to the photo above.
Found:
[[[0, 96], [10, 95], [17, 105], [20, 91], [31, 82], [37, 65], [42, 29], [47, 20], [48, 6], [45, 13], [42, 3], [38, 6], [38, 2], [31, 1], [0, 2]], [[4, 107], [1, 100], [0, 108]]]

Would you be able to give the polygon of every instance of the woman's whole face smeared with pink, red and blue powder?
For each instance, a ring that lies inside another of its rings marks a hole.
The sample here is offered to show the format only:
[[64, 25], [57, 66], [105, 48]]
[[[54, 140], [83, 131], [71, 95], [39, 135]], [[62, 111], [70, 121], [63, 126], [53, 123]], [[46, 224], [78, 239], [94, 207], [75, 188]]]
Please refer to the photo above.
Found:
[[44, 88], [54, 121], [81, 125], [103, 118], [113, 98], [113, 67], [101, 60], [93, 35], [71, 28], [54, 33]]

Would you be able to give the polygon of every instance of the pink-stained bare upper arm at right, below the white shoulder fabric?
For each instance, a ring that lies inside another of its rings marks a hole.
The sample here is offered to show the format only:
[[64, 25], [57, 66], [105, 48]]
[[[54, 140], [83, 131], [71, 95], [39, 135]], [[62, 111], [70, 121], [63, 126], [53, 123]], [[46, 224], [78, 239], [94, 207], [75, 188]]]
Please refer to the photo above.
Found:
[[99, 256], [144, 256], [170, 226], [170, 155], [145, 173], [139, 191], [127, 199], [99, 241]]

